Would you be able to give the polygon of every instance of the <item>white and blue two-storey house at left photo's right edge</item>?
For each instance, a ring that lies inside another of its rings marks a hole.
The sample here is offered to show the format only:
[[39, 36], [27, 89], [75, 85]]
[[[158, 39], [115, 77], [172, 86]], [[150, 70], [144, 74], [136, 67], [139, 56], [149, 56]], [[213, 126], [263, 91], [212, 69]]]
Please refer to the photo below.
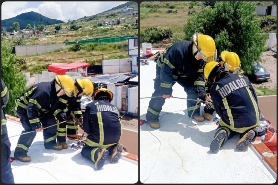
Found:
[[128, 37], [128, 55], [131, 56], [131, 72], [138, 74], [138, 48], [139, 39], [137, 37]]

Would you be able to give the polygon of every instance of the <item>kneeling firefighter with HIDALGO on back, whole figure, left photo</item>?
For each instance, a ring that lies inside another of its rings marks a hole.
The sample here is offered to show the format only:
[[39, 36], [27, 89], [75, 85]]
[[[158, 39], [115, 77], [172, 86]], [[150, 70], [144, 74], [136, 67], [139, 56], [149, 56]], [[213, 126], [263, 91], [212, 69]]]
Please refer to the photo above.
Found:
[[123, 145], [119, 143], [122, 134], [120, 114], [110, 104], [113, 93], [101, 88], [94, 93], [93, 102], [86, 107], [83, 128], [88, 136], [81, 155], [95, 162], [95, 168], [101, 169], [107, 155], [116, 163], [121, 157]]

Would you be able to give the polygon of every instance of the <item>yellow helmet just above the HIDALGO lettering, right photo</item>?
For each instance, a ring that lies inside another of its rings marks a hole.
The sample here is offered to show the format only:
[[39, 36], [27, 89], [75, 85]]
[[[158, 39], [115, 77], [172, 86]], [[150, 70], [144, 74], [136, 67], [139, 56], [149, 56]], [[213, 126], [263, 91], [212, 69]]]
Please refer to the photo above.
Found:
[[222, 51], [221, 58], [224, 61], [224, 67], [226, 71], [230, 73], [239, 73], [240, 60], [239, 56], [234, 52]]

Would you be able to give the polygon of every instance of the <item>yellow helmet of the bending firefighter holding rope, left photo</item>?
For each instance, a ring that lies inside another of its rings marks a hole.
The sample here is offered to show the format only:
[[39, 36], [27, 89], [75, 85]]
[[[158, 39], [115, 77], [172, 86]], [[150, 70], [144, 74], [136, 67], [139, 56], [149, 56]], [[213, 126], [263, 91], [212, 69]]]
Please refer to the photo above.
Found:
[[55, 75], [55, 80], [67, 96], [75, 96], [74, 81], [69, 75]]

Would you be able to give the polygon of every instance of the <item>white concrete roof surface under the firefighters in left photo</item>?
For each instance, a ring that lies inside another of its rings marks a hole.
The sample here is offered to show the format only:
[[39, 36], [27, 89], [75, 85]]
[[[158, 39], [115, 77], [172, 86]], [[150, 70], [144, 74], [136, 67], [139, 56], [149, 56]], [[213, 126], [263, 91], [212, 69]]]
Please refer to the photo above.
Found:
[[[20, 134], [21, 124], [7, 121], [8, 135]], [[13, 157], [19, 136], [10, 138], [11, 157]], [[94, 163], [81, 155], [81, 149], [72, 149], [71, 140], [67, 141], [69, 148], [61, 151], [47, 150], [43, 146], [43, 134], [38, 132], [28, 155], [32, 161], [11, 163], [15, 183], [136, 183], [138, 181], [138, 164], [122, 157], [116, 164], [106, 160], [103, 169], [95, 170]], [[109, 156], [110, 157], [110, 156]]]

